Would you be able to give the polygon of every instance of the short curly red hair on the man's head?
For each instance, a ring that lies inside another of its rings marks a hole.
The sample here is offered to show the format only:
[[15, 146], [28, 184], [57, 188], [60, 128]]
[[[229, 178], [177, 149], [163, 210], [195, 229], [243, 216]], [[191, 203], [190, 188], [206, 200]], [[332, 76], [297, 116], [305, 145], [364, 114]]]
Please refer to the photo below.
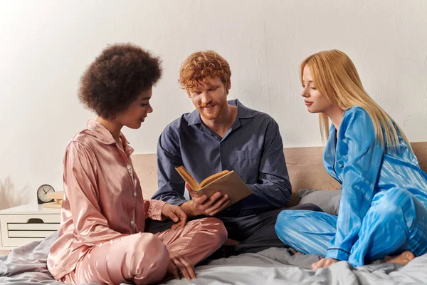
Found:
[[187, 92], [207, 84], [209, 80], [219, 77], [228, 86], [231, 70], [228, 62], [215, 51], [197, 51], [192, 53], [179, 69], [179, 84]]

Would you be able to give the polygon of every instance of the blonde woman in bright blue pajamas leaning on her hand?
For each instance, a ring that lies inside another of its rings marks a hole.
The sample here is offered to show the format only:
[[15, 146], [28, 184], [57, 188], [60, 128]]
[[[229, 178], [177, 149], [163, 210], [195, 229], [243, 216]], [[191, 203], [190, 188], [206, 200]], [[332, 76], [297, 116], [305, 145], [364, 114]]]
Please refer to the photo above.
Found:
[[301, 64], [302, 97], [320, 113], [327, 135], [324, 163], [342, 184], [339, 214], [286, 210], [276, 233], [283, 243], [324, 259], [361, 266], [386, 256], [407, 264], [427, 252], [427, 175], [406, 136], [366, 93], [341, 51], [321, 51]]

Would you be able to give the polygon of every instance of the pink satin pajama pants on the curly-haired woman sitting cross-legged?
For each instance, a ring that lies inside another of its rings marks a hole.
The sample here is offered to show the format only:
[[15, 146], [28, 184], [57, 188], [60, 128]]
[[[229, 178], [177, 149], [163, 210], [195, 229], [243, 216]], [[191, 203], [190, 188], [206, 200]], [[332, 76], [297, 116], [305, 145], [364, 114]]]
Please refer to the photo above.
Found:
[[93, 247], [61, 281], [72, 284], [157, 283], [166, 276], [169, 252], [181, 254], [191, 264], [197, 264], [219, 249], [226, 239], [226, 228], [216, 218], [196, 219], [184, 228], [157, 234], [131, 234]]

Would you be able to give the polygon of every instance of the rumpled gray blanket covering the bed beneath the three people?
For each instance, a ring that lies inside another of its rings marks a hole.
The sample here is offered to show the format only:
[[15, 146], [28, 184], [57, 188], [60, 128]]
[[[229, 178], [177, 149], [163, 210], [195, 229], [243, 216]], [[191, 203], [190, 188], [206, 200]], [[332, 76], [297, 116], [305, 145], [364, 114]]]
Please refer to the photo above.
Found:
[[[57, 234], [14, 249], [0, 257], [0, 284], [63, 284], [46, 266]], [[312, 270], [317, 255], [292, 255], [290, 249], [266, 249], [258, 254], [218, 259], [196, 267], [197, 279], [170, 280], [165, 284], [427, 284], [427, 254], [406, 266], [371, 264], [354, 268], [340, 261], [327, 269]]]

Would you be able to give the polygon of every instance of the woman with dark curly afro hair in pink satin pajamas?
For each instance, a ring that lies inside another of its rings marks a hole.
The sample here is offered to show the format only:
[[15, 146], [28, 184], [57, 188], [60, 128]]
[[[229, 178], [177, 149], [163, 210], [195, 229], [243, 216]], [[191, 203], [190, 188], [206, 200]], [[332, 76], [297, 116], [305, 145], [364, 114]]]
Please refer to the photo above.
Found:
[[[227, 237], [216, 218], [186, 223], [185, 212], [162, 201], [144, 200], [132, 165], [133, 152], [120, 132], [137, 129], [152, 107], [159, 58], [138, 46], [106, 48], [81, 78], [80, 101], [97, 114], [69, 142], [59, 237], [48, 269], [72, 284], [151, 284], [169, 275], [195, 278], [194, 265]], [[164, 232], [144, 232], [145, 219], [170, 218]]]

